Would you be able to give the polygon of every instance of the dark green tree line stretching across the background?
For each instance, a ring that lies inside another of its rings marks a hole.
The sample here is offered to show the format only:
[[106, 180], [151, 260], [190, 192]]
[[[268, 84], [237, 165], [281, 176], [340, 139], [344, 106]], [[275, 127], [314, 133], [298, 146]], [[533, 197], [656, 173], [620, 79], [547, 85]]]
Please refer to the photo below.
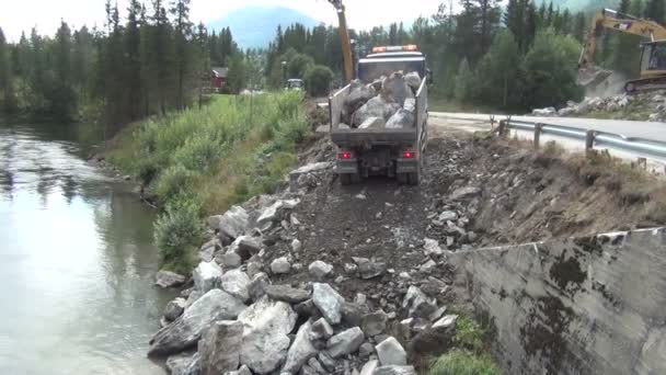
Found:
[[[576, 60], [592, 14], [552, 3], [459, 0], [410, 26], [393, 23], [351, 30], [355, 56], [372, 46], [417, 44], [428, 56], [434, 92], [507, 111], [556, 105], [582, 92]], [[621, 0], [619, 11], [664, 22], [666, 0]], [[601, 7], [601, 4], [599, 5]], [[241, 50], [229, 29], [208, 32], [190, 20], [190, 0], [131, 0], [124, 22], [106, 2], [103, 29], [71, 30], [62, 21], [53, 36], [33, 29], [18, 43], [0, 30], [0, 105], [7, 112], [46, 113], [62, 118], [101, 118], [112, 129], [152, 114], [202, 102], [210, 67], [229, 68], [229, 92], [306, 81], [323, 95], [343, 82], [343, 56], [335, 26], [301, 24], [276, 30], [265, 49]], [[597, 65], [629, 76], [638, 71], [640, 38], [608, 33]]]

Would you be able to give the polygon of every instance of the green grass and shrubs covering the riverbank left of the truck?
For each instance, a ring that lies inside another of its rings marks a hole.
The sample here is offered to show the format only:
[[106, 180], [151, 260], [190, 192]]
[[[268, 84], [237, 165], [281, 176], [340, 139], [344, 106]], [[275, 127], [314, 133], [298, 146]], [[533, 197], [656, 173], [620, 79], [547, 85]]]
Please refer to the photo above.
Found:
[[200, 110], [127, 127], [107, 158], [163, 209], [156, 224], [163, 262], [188, 272], [200, 218], [278, 186], [308, 130], [300, 92], [216, 95]]

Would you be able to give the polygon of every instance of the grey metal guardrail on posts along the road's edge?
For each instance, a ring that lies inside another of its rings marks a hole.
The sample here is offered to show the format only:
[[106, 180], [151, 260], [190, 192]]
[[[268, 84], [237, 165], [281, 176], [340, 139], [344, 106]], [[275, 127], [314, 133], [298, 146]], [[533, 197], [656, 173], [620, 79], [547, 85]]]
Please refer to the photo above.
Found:
[[[491, 118], [494, 122], [494, 118]], [[535, 147], [539, 147], [541, 135], [551, 135], [574, 140], [585, 141], [585, 149], [590, 150], [595, 147], [611, 148], [635, 155], [647, 157], [666, 162], [666, 143], [655, 141], [644, 138], [629, 138], [620, 134], [607, 133], [595, 129], [578, 128], [548, 123], [516, 121], [507, 117], [500, 121], [500, 134], [515, 129], [533, 133]]]

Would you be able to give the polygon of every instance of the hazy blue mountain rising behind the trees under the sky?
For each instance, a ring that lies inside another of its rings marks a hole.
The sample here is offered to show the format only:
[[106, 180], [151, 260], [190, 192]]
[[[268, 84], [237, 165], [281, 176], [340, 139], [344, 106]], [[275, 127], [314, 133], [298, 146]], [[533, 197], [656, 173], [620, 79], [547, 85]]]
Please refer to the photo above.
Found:
[[236, 43], [245, 49], [268, 46], [275, 37], [277, 25], [285, 29], [296, 22], [306, 27], [320, 24], [320, 21], [290, 8], [252, 5], [234, 10], [209, 23], [208, 30], [230, 27]]

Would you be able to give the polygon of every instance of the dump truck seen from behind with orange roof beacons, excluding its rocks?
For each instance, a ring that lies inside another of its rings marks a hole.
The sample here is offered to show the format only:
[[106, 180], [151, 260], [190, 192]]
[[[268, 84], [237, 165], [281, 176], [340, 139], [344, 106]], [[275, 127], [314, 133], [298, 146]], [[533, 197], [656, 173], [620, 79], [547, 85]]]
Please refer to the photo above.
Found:
[[356, 78], [367, 84], [395, 71], [417, 72], [422, 78], [414, 95], [414, 122], [411, 126], [341, 126], [352, 84], [329, 98], [330, 135], [337, 147], [336, 171], [342, 184], [357, 183], [370, 175], [395, 178], [402, 184], [420, 183], [427, 140], [429, 71], [426, 56], [414, 45], [375, 47], [371, 54], [358, 60]]

